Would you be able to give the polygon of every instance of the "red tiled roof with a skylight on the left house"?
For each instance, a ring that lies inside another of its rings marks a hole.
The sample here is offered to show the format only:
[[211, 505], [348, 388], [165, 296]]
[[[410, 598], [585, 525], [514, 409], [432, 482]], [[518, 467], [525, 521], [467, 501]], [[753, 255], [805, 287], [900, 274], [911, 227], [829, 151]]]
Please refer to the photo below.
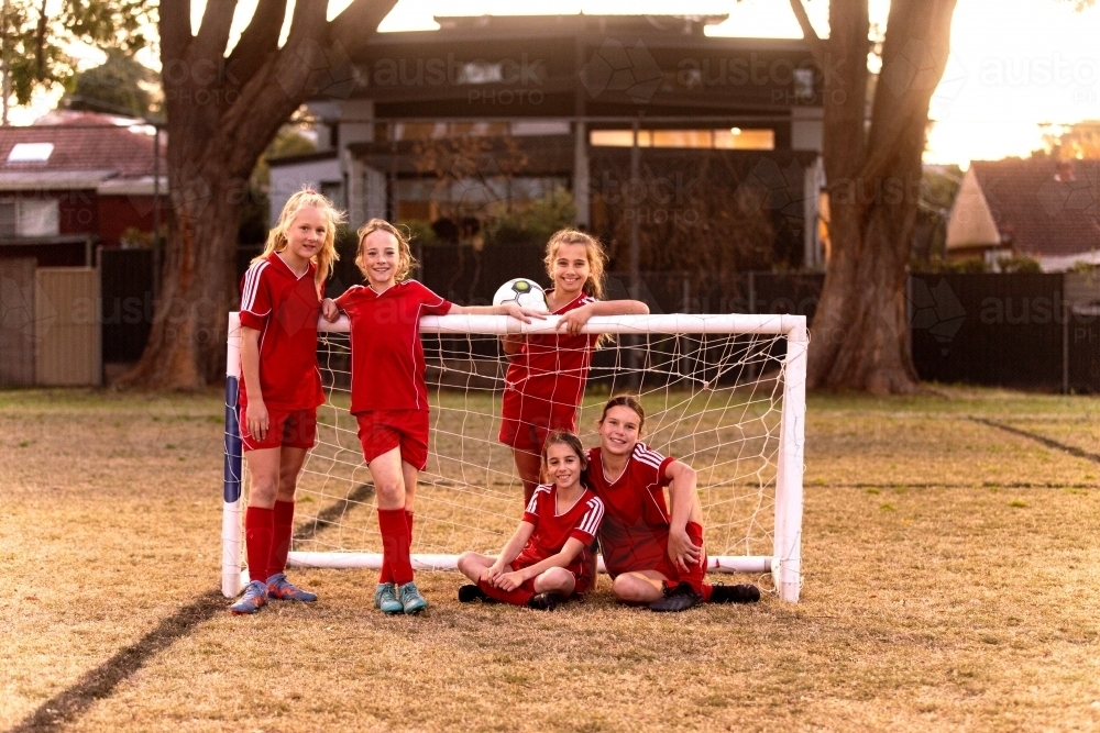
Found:
[[[69, 116], [59, 124], [0, 127], [0, 173], [110, 170], [114, 177], [153, 175], [153, 136], [132, 132], [99, 114]], [[53, 143], [45, 163], [9, 163], [18, 143]], [[161, 137], [162, 167], [165, 137]]]

